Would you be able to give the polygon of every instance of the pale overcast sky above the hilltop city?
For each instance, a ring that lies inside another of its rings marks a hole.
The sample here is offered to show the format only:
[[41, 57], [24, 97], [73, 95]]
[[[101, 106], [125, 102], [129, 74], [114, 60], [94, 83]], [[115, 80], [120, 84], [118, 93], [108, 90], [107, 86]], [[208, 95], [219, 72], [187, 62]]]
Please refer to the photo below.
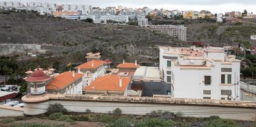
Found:
[[[2, 0], [0, 0], [2, 1]], [[19, 0], [17, 0], [19, 1]], [[231, 10], [256, 13], [256, 0], [20, 0], [21, 2], [54, 2], [57, 4], [89, 4], [92, 6], [150, 7], [168, 10], [210, 10], [212, 13]]]

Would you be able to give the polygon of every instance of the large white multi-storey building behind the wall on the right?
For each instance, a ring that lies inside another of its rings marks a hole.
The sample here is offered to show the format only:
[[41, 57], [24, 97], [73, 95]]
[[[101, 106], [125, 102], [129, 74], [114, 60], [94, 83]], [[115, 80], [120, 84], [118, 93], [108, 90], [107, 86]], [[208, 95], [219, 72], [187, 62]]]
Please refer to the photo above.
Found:
[[235, 57], [220, 47], [160, 47], [160, 71], [174, 98], [239, 100]]

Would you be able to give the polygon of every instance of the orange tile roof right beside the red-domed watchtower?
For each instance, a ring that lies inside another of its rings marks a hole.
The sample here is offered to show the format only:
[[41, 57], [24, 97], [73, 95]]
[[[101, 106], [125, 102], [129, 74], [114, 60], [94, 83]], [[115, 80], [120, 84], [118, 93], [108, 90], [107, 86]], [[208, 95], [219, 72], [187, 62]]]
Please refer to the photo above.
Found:
[[63, 89], [68, 84], [73, 83], [74, 81], [79, 80], [83, 77], [83, 74], [75, 73], [75, 77], [72, 76], [73, 72], [63, 72], [57, 76], [54, 76], [53, 81], [51, 81], [47, 86], [46, 89]]

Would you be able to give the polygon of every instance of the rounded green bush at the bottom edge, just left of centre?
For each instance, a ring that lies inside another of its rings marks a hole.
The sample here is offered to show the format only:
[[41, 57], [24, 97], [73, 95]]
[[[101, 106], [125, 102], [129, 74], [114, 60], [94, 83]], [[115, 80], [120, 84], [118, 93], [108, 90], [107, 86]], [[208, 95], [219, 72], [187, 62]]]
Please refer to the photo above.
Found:
[[106, 127], [129, 127], [133, 126], [129, 118], [119, 118], [110, 122]]

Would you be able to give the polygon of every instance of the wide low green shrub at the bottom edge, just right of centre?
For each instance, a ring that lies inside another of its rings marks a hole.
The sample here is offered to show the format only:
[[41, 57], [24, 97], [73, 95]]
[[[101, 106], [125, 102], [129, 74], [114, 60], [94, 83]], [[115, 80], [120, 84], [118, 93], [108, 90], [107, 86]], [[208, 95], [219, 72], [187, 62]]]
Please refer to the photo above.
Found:
[[173, 120], [163, 120], [161, 118], [147, 118], [145, 120], [139, 121], [135, 124], [135, 126], [138, 127], [144, 127], [144, 126], [161, 126], [161, 127], [169, 127], [176, 125], [176, 122]]

